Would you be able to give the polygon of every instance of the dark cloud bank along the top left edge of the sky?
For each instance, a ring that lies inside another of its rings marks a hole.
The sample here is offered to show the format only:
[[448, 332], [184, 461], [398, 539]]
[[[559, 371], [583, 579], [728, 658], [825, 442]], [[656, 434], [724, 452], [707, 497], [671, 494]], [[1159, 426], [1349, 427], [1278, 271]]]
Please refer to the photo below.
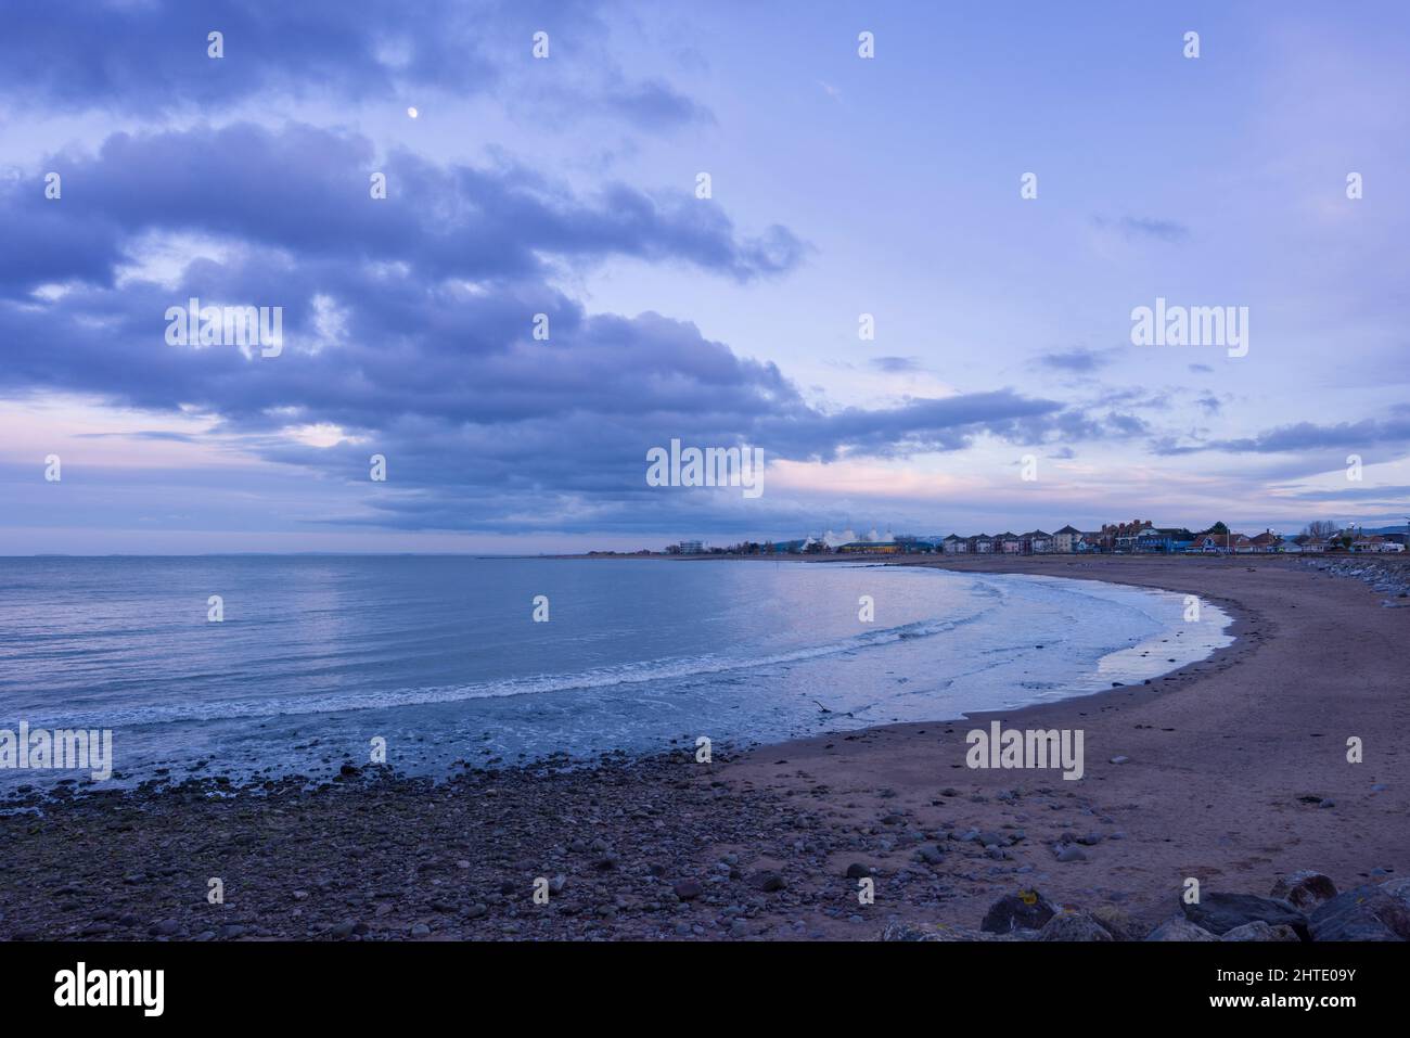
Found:
[[[550, 0], [11, 0], [0, 97], [66, 111], [155, 118], [213, 114], [257, 97], [391, 102], [434, 90], [523, 104], [571, 96], [642, 128], [708, 121], [658, 79], [632, 80], [611, 52], [602, 3]], [[207, 56], [207, 35], [224, 56]], [[532, 56], [548, 32], [550, 56]]]

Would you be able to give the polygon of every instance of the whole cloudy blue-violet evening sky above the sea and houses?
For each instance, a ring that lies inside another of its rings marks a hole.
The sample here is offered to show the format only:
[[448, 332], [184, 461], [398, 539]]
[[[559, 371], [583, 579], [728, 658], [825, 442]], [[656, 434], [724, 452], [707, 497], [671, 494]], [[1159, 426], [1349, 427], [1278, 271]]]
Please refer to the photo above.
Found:
[[1410, 8], [979, 7], [8, 0], [0, 554], [1404, 523]]

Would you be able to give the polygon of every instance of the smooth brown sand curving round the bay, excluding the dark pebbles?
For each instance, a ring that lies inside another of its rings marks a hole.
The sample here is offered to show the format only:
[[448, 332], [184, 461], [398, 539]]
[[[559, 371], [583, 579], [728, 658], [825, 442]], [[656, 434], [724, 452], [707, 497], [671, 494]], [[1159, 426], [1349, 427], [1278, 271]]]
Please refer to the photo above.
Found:
[[[1196, 594], [1235, 616], [1237, 640], [1149, 685], [945, 726], [811, 739], [729, 769], [740, 788], [791, 793], [818, 804], [830, 826], [859, 835], [1024, 832], [1007, 848], [1011, 859], [969, 860], [948, 873], [946, 896], [924, 905], [907, 898], [904, 918], [974, 928], [993, 900], [1025, 884], [1056, 904], [1114, 905], [1153, 925], [1191, 876], [1206, 890], [1268, 894], [1279, 876], [1301, 869], [1331, 876], [1341, 890], [1410, 870], [1410, 611], [1383, 608], [1385, 597], [1361, 581], [1285, 558], [943, 564]], [[1086, 777], [964, 767], [964, 733], [993, 719], [1081, 728]], [[1363, 763], [1347, 762], [1348, 736], [1362, 739]], [[904, 821], [884, 821], [897, 815]], [[1084, 860], [1059, 863], [1050, 848], [1065, 834], [1101, 841], [1083, 848]], [[829, 870], [840, 872], [845, 857], [829, 856]], [[866, 863], [900, 874], [918, 867], [909, 859], [898, 841]], [[878, 881], [878, 904], [884, 889]]]

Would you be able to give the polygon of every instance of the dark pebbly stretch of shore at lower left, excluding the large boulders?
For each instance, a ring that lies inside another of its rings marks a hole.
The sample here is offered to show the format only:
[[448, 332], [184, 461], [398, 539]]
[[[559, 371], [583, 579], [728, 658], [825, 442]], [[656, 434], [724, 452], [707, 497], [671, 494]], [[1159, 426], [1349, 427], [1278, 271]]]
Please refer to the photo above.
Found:
[[814, 897], [706, 853], [726, 841], [787, 855], [780, 834], [816, 825], [785, 798], [733, 795], [719, 755], [563, 763], [444, 783], [354, 766], [313, 788], [188, 780], [13, 814], [0, 936], [746, 936]]

